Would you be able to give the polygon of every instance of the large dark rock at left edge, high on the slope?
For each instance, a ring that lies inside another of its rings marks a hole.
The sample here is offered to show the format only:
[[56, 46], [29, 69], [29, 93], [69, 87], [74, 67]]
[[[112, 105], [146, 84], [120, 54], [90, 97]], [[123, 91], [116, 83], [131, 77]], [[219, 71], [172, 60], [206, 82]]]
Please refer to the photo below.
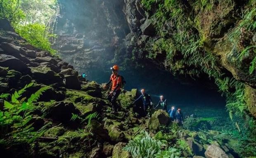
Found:
[[0, 66], [9, 67], [9, 69], [14, 69], [20, 72], [24, 72], [28, 69], [24, 62], [6, 54], [0, 54]]

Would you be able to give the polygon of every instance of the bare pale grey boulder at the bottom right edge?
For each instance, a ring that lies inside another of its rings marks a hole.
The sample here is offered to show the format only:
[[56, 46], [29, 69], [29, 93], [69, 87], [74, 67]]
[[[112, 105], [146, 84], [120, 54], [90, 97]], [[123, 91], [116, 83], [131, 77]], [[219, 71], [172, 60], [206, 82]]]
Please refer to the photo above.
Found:
[[215, 144], [208, 146], [204, 153], [204, 156], [206, 158], [228, 158], [228, 155]]

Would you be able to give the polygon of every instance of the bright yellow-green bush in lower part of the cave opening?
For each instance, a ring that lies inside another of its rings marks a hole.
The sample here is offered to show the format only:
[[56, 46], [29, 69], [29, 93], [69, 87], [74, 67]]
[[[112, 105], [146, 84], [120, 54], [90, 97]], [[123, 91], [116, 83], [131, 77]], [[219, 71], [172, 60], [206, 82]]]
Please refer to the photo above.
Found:
[[42, 24], [28, 24], [25, 26], [18, 26], [16, 28], [17, 33], [21, 37], [25, 38], [31, 45], [50, 52], [55, 55], [56, 50], [52, 49], [50, 39], [56, 38], [55, 35], [50, 34], [46, 31], [46, 27]]

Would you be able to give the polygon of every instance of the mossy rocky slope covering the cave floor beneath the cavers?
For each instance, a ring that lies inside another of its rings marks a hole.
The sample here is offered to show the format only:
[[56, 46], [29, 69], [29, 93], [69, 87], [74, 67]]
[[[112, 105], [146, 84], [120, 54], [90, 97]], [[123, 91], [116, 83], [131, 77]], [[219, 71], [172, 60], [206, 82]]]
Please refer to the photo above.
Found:
[[[37, 50], [5, 27], [0, 31], [0, 93], [12, 94], [31, 82], [34, 85], [23, 97], [50, 86], [32, 113], [34, 130], [47, 125], [45, 132], [30, 144], [0, 145], [1, 153], [6, 156], [130, 158], [123, 147], [145, 131], [166, 146], [180, 149], [184, 157], [234, 158], [240, 154], [235, 148], [238, 142], [228, 135], [198, 130], [210, 128], [211, 119], [188, 118], [187, 125], [192, 126], [186, 126], [190, 130], [185, 130], [170, 122], [162, 110], [152, 111], [150, 118], [140, 117], [133, 110], [132, 103], [138, 94], [135, 89], [121, 92], [119, 112], [111, 114], [109, 101], [105, 99], [107, 91], [102, 90], [101, 85], [82, 80], [73, 66]], [[0, 110], [4, 110], [2, 101]], [[0, 136], [12, 139], [8, 135]], [[188, 146], [182, 148], [179, 142], [186, 142]]]

